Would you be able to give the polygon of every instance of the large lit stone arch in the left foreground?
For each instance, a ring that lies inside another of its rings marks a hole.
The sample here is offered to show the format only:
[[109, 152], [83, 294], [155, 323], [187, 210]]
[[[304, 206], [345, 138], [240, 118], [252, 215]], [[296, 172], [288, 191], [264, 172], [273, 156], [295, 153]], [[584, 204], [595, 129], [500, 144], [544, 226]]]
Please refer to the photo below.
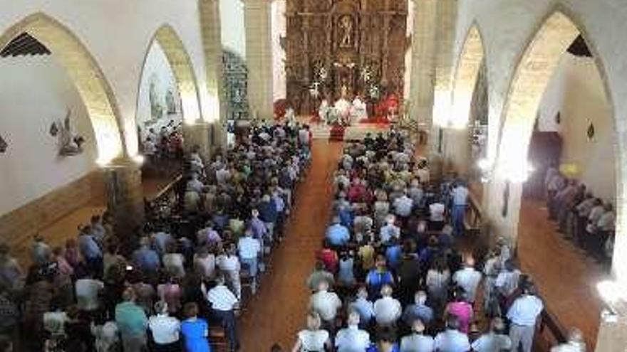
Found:
[[105, 75], [88, 48], [56, 19], [36, 13], [11, 26], [0, 36], [4, 48], [21, 33], [40, 41], [66, 69], [86, 107], [98, 150], [98, 164], [104, 165], [128, 155], [120, 129], [120, 113]]

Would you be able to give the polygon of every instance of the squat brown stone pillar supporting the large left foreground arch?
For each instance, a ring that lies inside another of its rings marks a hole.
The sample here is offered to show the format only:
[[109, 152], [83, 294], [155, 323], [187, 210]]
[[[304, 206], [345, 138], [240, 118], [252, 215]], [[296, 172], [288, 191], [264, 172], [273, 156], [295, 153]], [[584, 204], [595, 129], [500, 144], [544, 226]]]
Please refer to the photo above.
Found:
[[107, 210], [113, 215], [115, 235], [131, 235], [144, 221], [142, 171], [128, 158], [116, 159], [103, 167]]

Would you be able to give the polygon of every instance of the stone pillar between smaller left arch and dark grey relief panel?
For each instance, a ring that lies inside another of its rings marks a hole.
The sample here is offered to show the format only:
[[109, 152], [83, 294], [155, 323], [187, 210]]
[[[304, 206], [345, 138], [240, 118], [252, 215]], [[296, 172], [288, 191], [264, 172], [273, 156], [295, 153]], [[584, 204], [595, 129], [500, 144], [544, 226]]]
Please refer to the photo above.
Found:
[[205, 112], [208, 121], [214, 124], [214, 148], [227, 146], [227, 132], [224, 125], [227, 119], [224, 97], [224, 77], [222, 70], [222, 36], [219, 0], [199, 1], [200, 29], [204, 50], [204, 68], [207, 73], [209, 107]]

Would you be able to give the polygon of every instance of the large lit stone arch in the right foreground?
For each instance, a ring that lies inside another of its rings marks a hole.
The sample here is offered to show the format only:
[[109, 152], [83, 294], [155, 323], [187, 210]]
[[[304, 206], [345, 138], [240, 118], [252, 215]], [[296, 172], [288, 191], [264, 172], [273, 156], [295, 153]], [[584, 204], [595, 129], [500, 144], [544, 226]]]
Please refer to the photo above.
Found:
[[[581, 22], [575, 21], [573, 18], [575, 17], [570, 15], [568, 9], [563, 9], [561, 6], [551, 12], [541, 22], [532, 38], [529, 39], [527, 47], [521, 53], [519, 61], [515, 66], [514, 75], [510, 82], [502, 111], [501, 122], [499, 122], [497, 156], [490, 186], [490, 196], [493, 199], [499, 199], [499, 195], [504, 188], [507, 188], [506, 185], [509, 183], [522, 183], [527, 178], [529, 173], [527, 154], [541, 98], [562, 55], [577, 36], [581, 35], [584, 38], [586, 45], [593, 54], [596, 68], [605, 87], [610, 114], [615, 116], [611, 90], [609, 89], [601, 56], [598, 55], [594, 42], [590, 41], [584, 26], [579, 25]], [[616, 125], [615, 117], [613, 117], [613, 122]], [[621, 141], [617, 140], [616, 142], [618, 143], [616, 143], [616, 148], [613, 151], [613, 157], [620, 160]], [[620, 162], [616, 162], [616, 189], [618, 194], [620, 194], [622, 189], [622, 180]], [[516, 226], [519, 218], [517, 209], [519, 208], [521, 197], [522, 187], [512, 188], [512, 195], [509, 197], [508, 202], [514, 203], [510, 203], [509, 208], [516, 211], [509, 212], [512, 216], [507, 215], [507, 220], [494, 219], [497, 223], [501, 223], [504, 233], [514, 237], [517, 234]], [[504, 202], [494, 202], [490, 206], [493, 210], [491, 213], [496, 214], [497, 212], [494, 210], [504, 207]], [[624, 218], [624, 211], [621, 206], [618, 207], [617, 223], [620, 223], [621, 218]], [[620, 227], [618, 231], [620, 232]], [[616, 238], [620, 235], [618, 233]]]

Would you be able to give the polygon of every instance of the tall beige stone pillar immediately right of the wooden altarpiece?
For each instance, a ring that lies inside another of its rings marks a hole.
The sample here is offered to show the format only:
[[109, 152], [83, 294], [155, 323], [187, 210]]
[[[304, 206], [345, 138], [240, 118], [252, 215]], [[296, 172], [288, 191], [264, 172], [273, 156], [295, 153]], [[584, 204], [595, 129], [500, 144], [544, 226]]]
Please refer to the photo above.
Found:
[[[429, 133], [432, 126], [435, 82], [435, 35], [437, 0], [416, 0], [410, 75], [410, 107], [412, 119]], [[430, 136], [430, 139], [435, 139]]]

